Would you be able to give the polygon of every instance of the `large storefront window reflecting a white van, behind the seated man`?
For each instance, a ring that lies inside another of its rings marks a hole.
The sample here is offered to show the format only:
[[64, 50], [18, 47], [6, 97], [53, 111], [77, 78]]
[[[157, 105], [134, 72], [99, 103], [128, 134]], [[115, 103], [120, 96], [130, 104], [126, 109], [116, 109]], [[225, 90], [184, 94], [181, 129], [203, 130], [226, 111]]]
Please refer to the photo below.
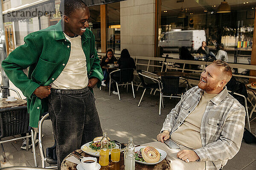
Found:
[[158, 46], [163, 56], [183, 58], [185, 49], [198, 59], [205, 41], [215, 57], [224, 48], [228, 62], [249, 64], [256, 1], [226, 1], [228, 13], [217, 13], [220, 0], [162, 0]]

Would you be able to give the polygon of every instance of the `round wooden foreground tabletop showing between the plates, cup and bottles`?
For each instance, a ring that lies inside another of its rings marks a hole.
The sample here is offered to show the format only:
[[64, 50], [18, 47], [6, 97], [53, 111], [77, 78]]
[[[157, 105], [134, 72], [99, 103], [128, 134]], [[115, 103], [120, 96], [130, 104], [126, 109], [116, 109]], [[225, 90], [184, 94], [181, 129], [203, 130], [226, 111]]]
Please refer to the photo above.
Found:
[[[75, 152], [80, 153], [84, 157], [91, 156], [87, 153], [84, 153], [81, 149], [78, 149]], [[66, 158], [62, 161], [61, 170], [76, 170], [77, 164], [66, 160], [70, 156], [72, 156], [71, 153], [68, 156], [66, 156]], [[96, 157], [96, 156], [91, 156], [91, 157]], [[96, 157], [96, 158], [97, 158], [97, 162], [99, 163], [99, 157]], [[100, 170], [124, 170], [124, 169], [125, 169], [124, 153], [121, 153], [120, 161], [116, 163], [111, 161], [111, 155], [110, 155], [108, 166], [104, 166], [104, 167], [102, 166], [100, 168]], [[146, 165], [146, 164], [140, 164], [135, 162], [135, 169], [136, 170], [170, 170], [171, 168], [168, 161], [164, 159], [160, 163], [154, 164], [154, 165]]]

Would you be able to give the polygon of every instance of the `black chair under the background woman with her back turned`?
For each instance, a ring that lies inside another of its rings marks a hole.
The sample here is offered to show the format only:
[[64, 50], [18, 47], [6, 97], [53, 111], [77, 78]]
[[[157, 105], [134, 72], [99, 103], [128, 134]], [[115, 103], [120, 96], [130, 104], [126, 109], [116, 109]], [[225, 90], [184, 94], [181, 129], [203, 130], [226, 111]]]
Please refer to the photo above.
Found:
[[[118, 74], [118, 72], [119, 72], [119, 74]], [[117, 93], [118, 93], [119, 100], [121, 100], [120, 93], [119, 93], [119, 88], [118, 88], [119, 85], [127, 85], [127, 93], [128, 93], [128, 85], [131, 85], [132, 93], [133, 93], [133, 96], [135, 98], [134, 86], [133, 86], [133, 82], [132, 82], [133, 78], [134, 78], [133, 72], [134, 72], [133, 68], [122, 68], [122, 69], [118, 69], [118, 70], [112, 71], [109, 74], [110, 81], [109, 81], [109, 92], [108, 92], [108, 95], [110, 96], [110, 94], [111, 94], [110, 93], [111, 92], [111, 82], [116, 82], [116, 88], [117, 88]], [[113, 75], [114, 74], [118, 75], [118, 79], [113, 79]]]

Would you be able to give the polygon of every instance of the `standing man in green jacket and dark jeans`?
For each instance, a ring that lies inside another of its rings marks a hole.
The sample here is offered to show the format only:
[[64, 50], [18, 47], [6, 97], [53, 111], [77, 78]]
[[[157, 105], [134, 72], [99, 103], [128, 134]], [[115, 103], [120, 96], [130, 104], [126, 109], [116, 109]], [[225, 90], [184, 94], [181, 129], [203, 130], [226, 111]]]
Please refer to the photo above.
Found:
[[[55, 26], [33, 32], [3, 61], [9, 79], [27, 97], [29, 125], [38, 127], [49, 110], [61, 161], [102, 136], [92, 88], [103, 79], [95, 37], [87, 27], [90, 12], [82, 0], [63, 0]], [[29, 67], [28, 77], [23, 69]]]

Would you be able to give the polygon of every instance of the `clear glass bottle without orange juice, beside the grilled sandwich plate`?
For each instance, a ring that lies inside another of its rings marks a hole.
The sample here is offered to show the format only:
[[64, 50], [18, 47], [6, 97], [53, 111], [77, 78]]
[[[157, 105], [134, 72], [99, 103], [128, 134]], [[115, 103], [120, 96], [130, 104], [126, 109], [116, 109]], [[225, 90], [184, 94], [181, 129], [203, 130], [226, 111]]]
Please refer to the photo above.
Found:
[[125, 170], [135, 170], [135, 145], [133, 137], [129, 137], [127, 146], [125, 147]]

